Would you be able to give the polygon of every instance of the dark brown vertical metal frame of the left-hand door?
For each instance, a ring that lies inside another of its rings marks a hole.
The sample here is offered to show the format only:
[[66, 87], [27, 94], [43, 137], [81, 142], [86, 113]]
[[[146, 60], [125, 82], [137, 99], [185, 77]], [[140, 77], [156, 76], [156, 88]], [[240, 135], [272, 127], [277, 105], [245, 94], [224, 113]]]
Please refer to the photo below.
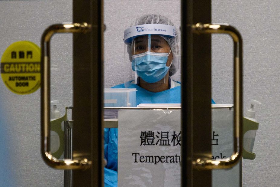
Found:
[[88, 34], [73, 34], [73, 159], [92, 161], [91, 169], [73, 170], [73, 186], [102, 186], [103, 1], [73, 0], [73, 22], [91, 25]]

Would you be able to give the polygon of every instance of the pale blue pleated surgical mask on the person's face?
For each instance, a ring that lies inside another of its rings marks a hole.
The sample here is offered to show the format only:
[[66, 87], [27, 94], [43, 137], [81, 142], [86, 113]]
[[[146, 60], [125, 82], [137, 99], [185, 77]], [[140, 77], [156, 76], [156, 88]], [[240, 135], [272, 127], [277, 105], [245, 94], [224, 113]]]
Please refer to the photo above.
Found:
[[[171, 52], [171, 50], [170, 50]], [[145, 52], [132, 56], [131, 67], [137, 75], [147, 83], [155, 83], [166, 76], [169, 67], [166, 66], [169, 53]]]

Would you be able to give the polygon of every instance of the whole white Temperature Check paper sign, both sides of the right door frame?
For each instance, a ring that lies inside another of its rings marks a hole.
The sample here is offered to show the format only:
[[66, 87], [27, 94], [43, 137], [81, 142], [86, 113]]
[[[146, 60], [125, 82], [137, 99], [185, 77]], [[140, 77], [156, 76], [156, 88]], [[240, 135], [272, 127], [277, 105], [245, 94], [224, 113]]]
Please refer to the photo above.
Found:
[[[181, 110], [120, 110], [118, 186], [181, 185]], [[212, 108], [212, 159], [233, 153], [233, 109]], [[207, 141], [207, 140], [205, 140]], [[213, 170], [213, 186], [238, 186], [239, 166]]]

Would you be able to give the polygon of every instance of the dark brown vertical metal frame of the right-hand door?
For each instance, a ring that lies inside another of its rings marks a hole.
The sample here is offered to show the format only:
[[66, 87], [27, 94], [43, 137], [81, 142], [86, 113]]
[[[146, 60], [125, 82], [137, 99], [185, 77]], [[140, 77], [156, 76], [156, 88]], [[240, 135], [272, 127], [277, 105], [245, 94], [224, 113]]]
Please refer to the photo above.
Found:
[[182, 0], [182, 186], [211, 186], [211, 170], [192, 161], [211, 159], [211, 34], [191, 25], [211, 23], [211, 0]]

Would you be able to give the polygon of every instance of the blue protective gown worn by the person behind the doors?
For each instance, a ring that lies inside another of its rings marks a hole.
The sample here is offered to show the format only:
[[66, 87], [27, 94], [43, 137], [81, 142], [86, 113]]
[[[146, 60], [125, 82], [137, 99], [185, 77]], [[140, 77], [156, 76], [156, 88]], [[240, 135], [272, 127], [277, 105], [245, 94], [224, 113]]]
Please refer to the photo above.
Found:
[[[181, 84], [162, 92], [150, 92], [132, 83], [129, 84], [129, 87], [119, 84], [112, 88], [136, 88], [136, 105], [140, 103], [181, 103]], [[212, 103], [214, 103], [213, 100]], [[105, 186], [117, 186], [117, 134], [117, 128], [104, 129], [104, 157], [108, 162], [104, 169]]]

